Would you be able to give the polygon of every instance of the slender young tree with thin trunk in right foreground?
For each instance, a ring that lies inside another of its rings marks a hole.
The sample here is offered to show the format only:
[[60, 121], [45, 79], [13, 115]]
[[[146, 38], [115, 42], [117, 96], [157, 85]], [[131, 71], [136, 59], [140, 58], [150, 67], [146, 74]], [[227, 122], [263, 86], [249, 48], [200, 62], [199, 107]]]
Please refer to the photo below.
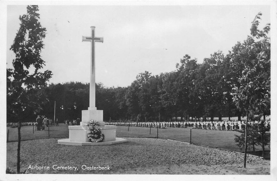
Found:
[[[270, 109], [270, 38], [267, 36], [270, 24], [263, 30], [258, 30], [258, 13], [252, 22], [251, 35], [241, 44], [239, 58], [243, 71], [239, 79], [240, 87], [235, 88], [234, 101], [240, 111], [247, 116], [245, 127], [245, 155], [244, 167], [246, 167], [247, 152], [247, 128], [250, 112]], [[251, 118], [251, 117], [250, 117]], [[250, 119], [250, 121], [252, 121]]]

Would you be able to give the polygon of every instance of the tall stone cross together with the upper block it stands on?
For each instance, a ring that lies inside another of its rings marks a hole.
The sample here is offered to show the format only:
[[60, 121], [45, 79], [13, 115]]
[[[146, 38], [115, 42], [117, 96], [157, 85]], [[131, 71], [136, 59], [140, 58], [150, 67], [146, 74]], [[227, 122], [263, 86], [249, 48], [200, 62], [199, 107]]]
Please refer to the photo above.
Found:
[[[102, 126], [103, 110], [97, 110], [95, 107], [95, 42], [102, 42], [103, 37], [95, 37], [95, 26], [91, 26], [91, 37], [83, 36], [82, 41], [91, 42], [91, 62], [90, 62], [90, 85], [89, 85], [89, 107], [88, 110], [82, 111], [82, 122], [88, 122], [93, 119], [98, 121]], [[83, 125], [81, 123], [80, 125]]]

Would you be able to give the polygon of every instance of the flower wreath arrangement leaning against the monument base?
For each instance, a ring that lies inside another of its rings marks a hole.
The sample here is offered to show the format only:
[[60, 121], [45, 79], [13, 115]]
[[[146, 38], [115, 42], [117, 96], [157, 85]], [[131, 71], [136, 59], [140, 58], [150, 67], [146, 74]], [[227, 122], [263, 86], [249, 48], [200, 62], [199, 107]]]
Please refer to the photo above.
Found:
[[92, 127], [88, 132], [88, 139], [90, 142], [101, 142], [104, 139], [104, 134], [101, 133], [101, 128], [99, 129], [99, 122], [90, 120], [86, 126]]

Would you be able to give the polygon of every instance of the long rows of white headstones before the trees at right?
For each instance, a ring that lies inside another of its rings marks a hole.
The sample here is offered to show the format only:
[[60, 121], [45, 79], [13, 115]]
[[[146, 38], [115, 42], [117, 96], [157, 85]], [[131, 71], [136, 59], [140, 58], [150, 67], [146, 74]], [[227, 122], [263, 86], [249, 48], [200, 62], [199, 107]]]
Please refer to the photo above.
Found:
[[[249, 125], [254, 123], [260, 123], [261, 121], [248, 122]], [[213, 129], [213, 130], [229, 130], [242, 129], [242, 125], [245, 125], [243, 121], [184, 121], [184, 122], [111, 122], [105, 123], [106, 125], [115, 126], [134, 126], [134, 127], [152, 127], [152, 128], [162, 128], [162, 127], [190, 127], [199, 129]], [[270, 120], [265, 120], [265, 126], [270, 125]], [[220, 129], [219, 129], [220, 126]], [[229, 126], [229, 129], [226, 129]]]

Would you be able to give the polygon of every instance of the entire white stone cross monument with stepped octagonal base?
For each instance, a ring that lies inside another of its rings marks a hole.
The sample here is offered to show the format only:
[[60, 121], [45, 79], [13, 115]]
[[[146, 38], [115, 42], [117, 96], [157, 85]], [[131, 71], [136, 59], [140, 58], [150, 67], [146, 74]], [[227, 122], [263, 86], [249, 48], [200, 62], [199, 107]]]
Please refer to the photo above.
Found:
[[[103, 38], [95, 37], [95, 27], [91, 26], [91, 37], [84, 37], [83, 41], [91, 42], [91, 61], [90, 61], [90, 87], [89, 87], [89, 107], [88, 110], [82, 110], [82, 122], [79, 126], [68, 126], [69, 138], [59, 139], [58, 144], [64, 145], [110, 145], [116, 143], [126, 142], [123, 138], [116, 137], [116, 126], [105, 125], [103, 121], [103, 110], [97, 110], [95, 107], [95, 42], [103, 42]], [[93, 119], [98, 121], [104, 140], [102, 142], [90, 142], [88, 139], [88, 132], [90, 127], [86, 124]]]

